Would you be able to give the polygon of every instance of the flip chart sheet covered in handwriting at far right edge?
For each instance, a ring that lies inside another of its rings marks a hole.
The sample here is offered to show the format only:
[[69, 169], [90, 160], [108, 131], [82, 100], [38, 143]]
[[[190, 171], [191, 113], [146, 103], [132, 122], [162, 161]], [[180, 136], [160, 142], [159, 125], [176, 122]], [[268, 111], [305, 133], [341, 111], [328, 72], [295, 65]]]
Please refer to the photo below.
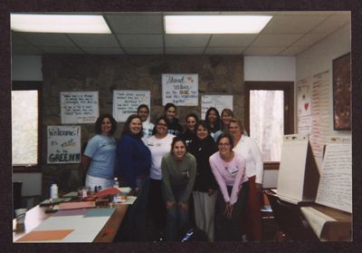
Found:
[[323, 160], [316, 202], [352, 212], [352, 151], [350, 143], [329, 143]]

